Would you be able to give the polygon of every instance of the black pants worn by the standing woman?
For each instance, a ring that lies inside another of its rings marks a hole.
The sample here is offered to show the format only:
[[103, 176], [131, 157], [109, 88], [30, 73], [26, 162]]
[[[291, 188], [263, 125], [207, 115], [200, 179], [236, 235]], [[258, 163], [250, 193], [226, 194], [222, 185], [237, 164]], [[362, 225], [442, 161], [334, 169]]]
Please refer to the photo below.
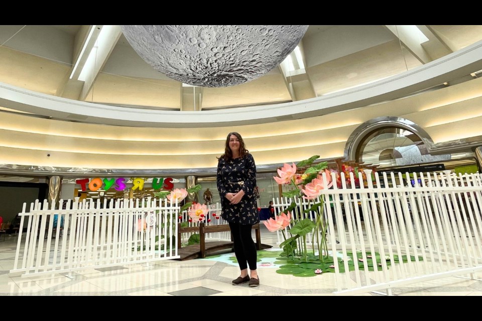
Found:
[[251, 237], [252, 227], [253, 225], [229, 222], [234, 243], [234, 254], [236, 255], [237, 263], [241, 270], [247, 269], [248, 265], [250, 266], [250, 270], [256, 270], [258, 252], [256, 251], [255, 242]]

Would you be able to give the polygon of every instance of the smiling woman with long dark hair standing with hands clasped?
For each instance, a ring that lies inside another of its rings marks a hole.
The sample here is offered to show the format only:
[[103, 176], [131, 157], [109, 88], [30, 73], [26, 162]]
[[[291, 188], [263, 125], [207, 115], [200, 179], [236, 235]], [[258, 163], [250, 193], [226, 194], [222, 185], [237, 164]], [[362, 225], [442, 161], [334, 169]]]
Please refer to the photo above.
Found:
[[[232, 280], [233, 285], [247, 282], [250, 287], [260, 285], [256, 269], [258, 253], [251, 237], [253, 224], [260, 222], [255, 187], [255, 160], [246, 149], [241, 135], [230, 132], [217, 164], [217, 190], [221, 197], [221, 217], [229, 223], [234, 254], [241, 270], [241, 275]], [[251, 276], [248, 275], [248, 266]]]

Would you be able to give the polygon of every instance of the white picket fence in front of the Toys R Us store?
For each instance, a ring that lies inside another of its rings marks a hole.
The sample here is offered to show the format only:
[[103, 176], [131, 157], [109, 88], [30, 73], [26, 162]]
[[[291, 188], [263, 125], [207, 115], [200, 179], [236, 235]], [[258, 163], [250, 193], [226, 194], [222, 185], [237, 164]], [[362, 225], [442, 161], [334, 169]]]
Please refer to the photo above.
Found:
[[[37, 200], [28, 212], [24, 203], [10, 272], [56, 273], [179, 258], [172, 237], [177, 235], [179, 209], [150, 198], [102, 204], [68, 200], [65, 210]], [[54, 215], [63, 217], [63, 228], [60, 217], [54, 226]]]

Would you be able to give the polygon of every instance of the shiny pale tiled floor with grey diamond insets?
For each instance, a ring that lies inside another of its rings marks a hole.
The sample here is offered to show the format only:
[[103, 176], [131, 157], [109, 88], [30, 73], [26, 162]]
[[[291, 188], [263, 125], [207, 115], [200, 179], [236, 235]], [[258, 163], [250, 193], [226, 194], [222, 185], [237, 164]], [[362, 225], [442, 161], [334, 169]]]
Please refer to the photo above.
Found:
[[[276, 247], [276, 241], [276, 234], [262, 225], [262, 242]], [[127, 264], [53, 276], [11, 276], [16, 245], [16, 237], [0, 240], [1, 295], [333, 295], [336, 291], [334, 273], [295, 277], [265, 266], [259, 268], [259, 287], [250, 288], [248, 283], [234, 286], [231, 280], [239, 275], [239, 269], [215, 259]], [[474, 273], [474, 277], [482, 279], [482, 273]], [[482, 281], [447, 277], [397, 287], [393, 294], [482, 295]]]

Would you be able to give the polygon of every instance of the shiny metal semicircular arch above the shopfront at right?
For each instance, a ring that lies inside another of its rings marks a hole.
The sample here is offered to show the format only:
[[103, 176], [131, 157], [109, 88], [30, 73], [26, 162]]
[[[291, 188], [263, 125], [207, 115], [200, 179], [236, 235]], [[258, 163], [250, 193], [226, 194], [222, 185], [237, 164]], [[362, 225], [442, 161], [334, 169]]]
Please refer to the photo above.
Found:
[[430, 147], [434, 145], [432, 137], [430, 137], [430, 135], [422, 127], [420, 127], [411, 120], [401, 117], [377, 117], [370, 119], [363, 124], [360, 124], [358, 127], [356, 127], [355, 130], [353, 130], [345, 143], [345, 150], [343, 155], [345, 160], [353, 161], [354, 159], [356, 159], [356, 148], [367, 136], [367, 134], [376, 129], [386, 127], [403, 128], [413, 132], [422, 139], [423, 143], [427, 146], [429, 150]]

